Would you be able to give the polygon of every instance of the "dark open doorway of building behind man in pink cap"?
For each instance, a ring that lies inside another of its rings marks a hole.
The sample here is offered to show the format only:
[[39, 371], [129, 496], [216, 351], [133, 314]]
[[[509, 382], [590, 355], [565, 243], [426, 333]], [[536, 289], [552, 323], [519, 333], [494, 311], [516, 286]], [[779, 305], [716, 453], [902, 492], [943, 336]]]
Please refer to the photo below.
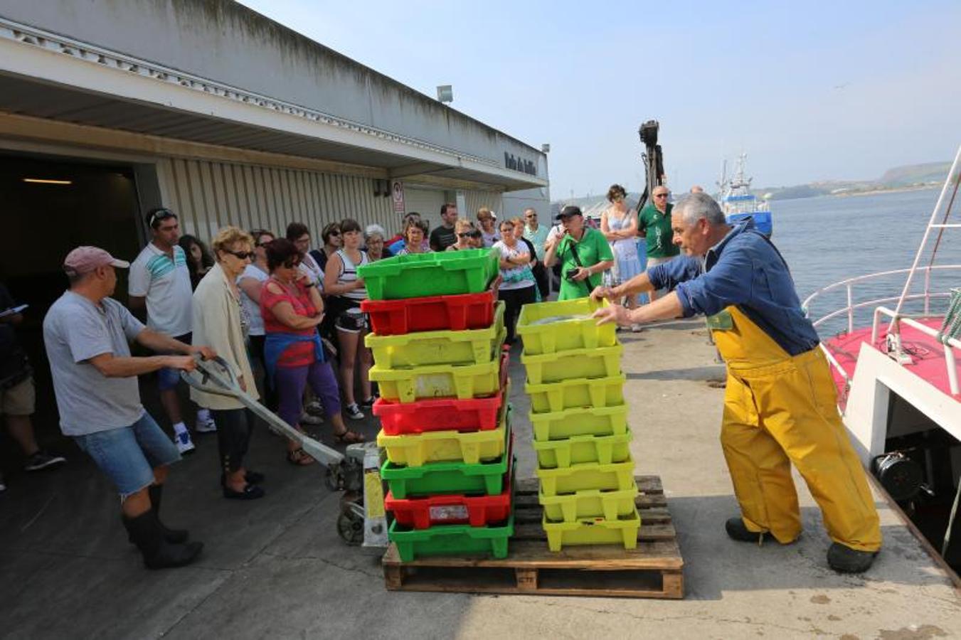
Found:
[[[117, 258], [136, 257], [141, 225], [135, 170], [0, 152], [0, 193], [0, 282], [17, 304], [29, 305], [16, 333], [34, 367], [34, 428], [42, 446], [62, 437], [43, 348], [43, 316], [66, 288], [61, 265], [74, 247], [91, 244]], [[115, 297], [126, 304], [127, 275], [122, 270], [117, 275]], [[0, 469], [12, 472], [20, 466], [20, 452], [6, 430], [0, 433]]]

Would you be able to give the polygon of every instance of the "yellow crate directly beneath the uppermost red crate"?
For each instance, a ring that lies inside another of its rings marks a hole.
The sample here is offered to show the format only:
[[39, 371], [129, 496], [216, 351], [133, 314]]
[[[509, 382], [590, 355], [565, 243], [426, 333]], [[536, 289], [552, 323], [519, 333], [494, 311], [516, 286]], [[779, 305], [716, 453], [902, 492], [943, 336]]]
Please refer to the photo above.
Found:
[[374, 361], [388, 369], [431, 364], [482, 364], [501, 353], [506, 331], [504, 303], [494, 307], [494, 322], [487, 329], [461, 332], [414, 332], [402, 335], [368, 333], [364, 343]]

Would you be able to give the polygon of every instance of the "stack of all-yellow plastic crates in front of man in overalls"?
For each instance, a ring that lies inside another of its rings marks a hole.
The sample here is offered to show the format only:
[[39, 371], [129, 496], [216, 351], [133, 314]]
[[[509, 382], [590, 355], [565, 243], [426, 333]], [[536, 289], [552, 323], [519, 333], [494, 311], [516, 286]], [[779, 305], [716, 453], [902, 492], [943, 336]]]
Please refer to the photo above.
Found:
[[587, 298], [526, 305], [518, 321], [551, 551], [592, 544], [632, 549], [641, 525], [623, 347], [613, 324], [598, 327], [590, 317], [600, 305]]

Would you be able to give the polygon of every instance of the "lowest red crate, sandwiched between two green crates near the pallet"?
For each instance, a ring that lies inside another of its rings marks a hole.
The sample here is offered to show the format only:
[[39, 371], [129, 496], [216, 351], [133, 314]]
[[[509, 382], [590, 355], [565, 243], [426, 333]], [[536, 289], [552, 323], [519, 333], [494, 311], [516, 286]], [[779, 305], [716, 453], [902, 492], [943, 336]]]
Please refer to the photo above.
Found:
[[[512, 478], [513, 460], [507, 468]], [[497, 496], [438, 495], [397, 500], [387, 492], [383, 506], [394, 514], [398, 524], [414, 529], [429, 529], [436, 525], [470, 525], [484, 527], [504, 522], [510, 516], [512, 481], [504, 483], [504, 492]]]

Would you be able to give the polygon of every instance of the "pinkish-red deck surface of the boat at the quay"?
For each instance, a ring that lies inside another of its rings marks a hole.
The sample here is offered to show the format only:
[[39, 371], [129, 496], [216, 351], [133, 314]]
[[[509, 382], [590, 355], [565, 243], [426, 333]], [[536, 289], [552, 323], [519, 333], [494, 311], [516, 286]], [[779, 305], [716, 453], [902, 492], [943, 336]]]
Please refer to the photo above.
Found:
[[[941, 329], [942, 318], [920, 318], [917, 319], [921, 324], [938, 331]], [[887, 323], [882, 323], [878, 331], [877, 342], [873, 345], [881, 353], [886, 353], [887, 344]], [[913, 327], [901, 324], [901, 345], [904, 351], [914, 360], [913, 364], [905, 364], [904, 368], [913, 372], [916, 376], [924, 379], [946, 395], [951, 395], [948, 384], [948, 365], [945, 363], [945, 347], [933, 337], [925, 335]], [[852, 333], [842, 333], [825, 340], [825, 347], [834, 356], [838, 363], [844, 367], [849, 378], [854, 377], [854, 369], [857, 366], [857, 355], [861, 352], [861, 343], [871, 344], [871, 327], [858, 329]], [[955, 357], [958, 354], [955, 352]], [[955, 363], [958, 370], [958, 379], [961, 380], [961, 365]], [[845, 390], [845, 381], [841, 374], [831, 367], [834, 382], [838, 387], [838, 404], [845, 406], [848, 403], [848, 394]], [[961, 401], [961, 395], [954, 396]]]

